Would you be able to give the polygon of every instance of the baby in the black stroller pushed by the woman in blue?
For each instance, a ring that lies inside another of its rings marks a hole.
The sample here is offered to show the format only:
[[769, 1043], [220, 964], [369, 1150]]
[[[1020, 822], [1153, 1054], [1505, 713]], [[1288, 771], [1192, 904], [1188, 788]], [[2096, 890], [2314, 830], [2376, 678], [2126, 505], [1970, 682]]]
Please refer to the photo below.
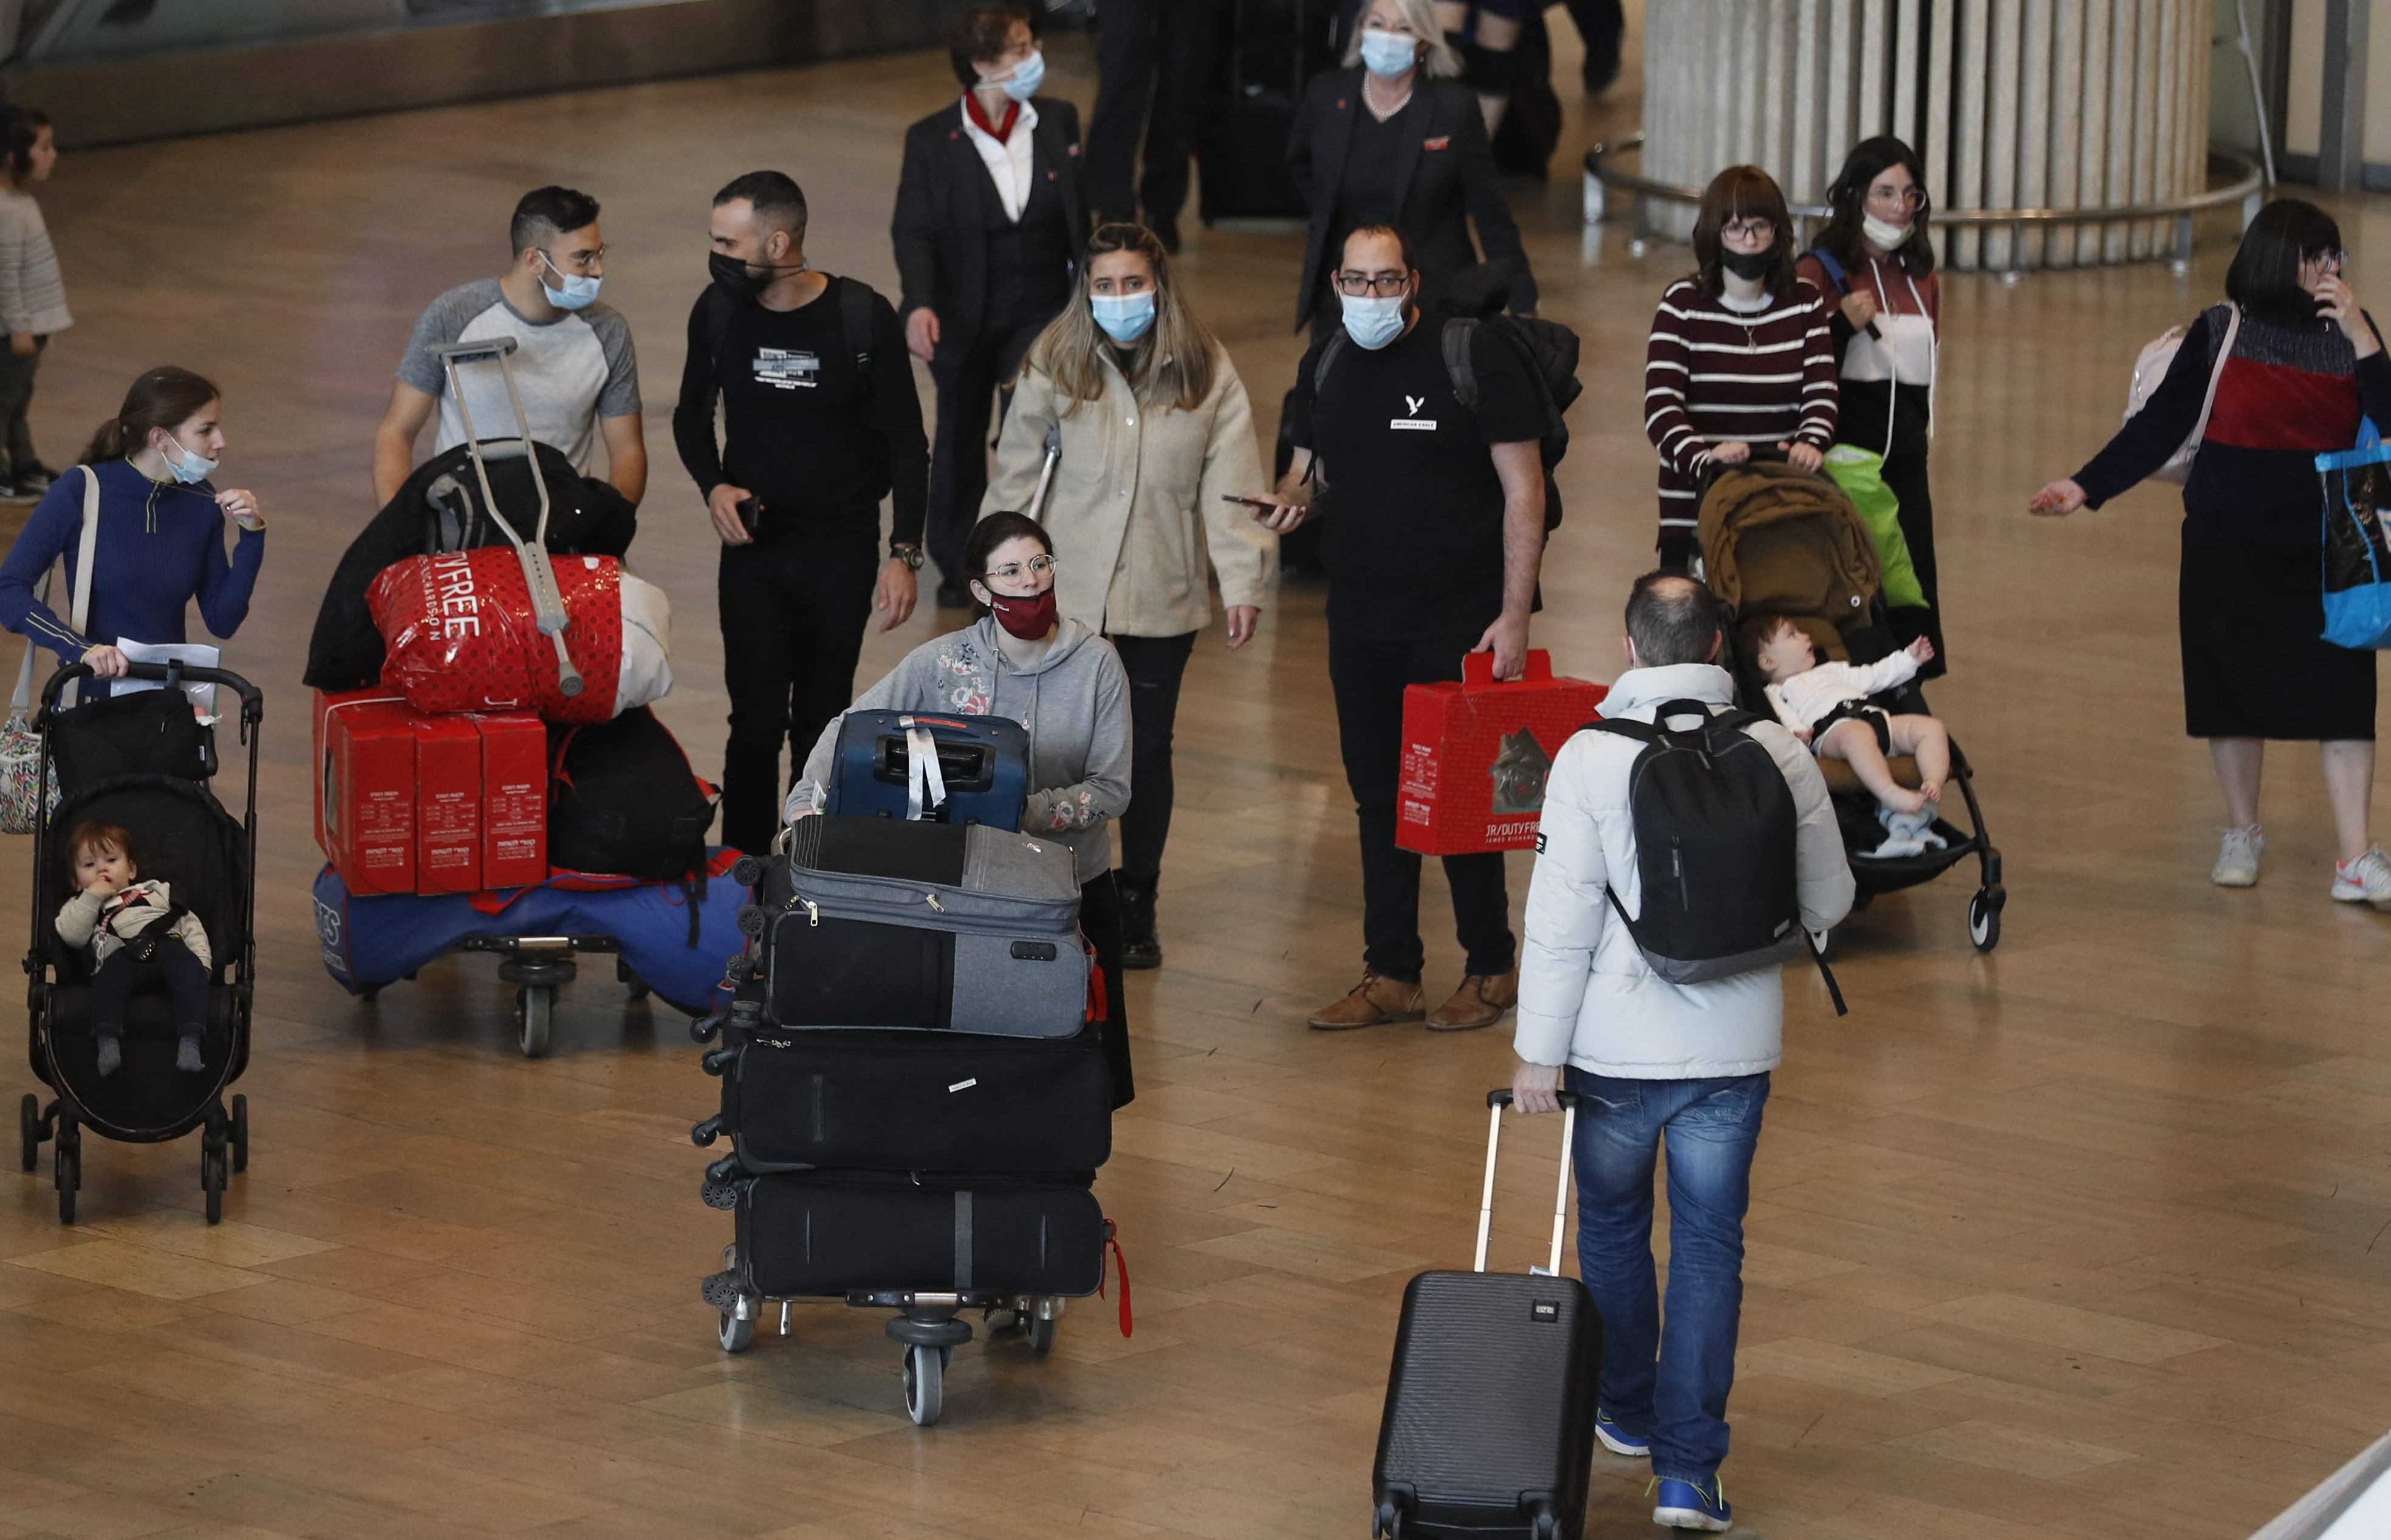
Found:
[[143, 882], [122, 827], [86, 820], [67, 839], [77, 894], [57, 909], [57, 935], [91, 949], [91, 1035], [98, 1071], [124, 1062], [124, 1002], [146, 978], [175, 1002], [175, 1069], [198, 1074], [208, 1026], [208, 930], [175, 904], [165, 882]]

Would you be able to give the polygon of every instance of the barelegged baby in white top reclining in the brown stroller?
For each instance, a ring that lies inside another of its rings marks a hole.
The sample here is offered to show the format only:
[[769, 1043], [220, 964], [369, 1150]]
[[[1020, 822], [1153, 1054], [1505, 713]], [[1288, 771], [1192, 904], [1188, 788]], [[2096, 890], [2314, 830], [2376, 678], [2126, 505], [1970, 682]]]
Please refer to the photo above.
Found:
[[[1788, 615], [1779, 615], [1762, 634], [1753, 662], [1767, 679], [1769, 705], [1810, 753], [1851, 765], [1860, 784], [1877, 799], [1884, 844], [1872, 856], [1915, 856], [1930, 844], [1944, 847], [1934, 832], [1934, 803], [1951, 780], [1951, 734], [1941, 722], [1918, 713], [1886, 713], [1867, 698], [1901, 689], [1918, 677], [1918, 665], [1934, 658], [1925, 636], [1877, 662], [1827, 662], [1817, 643]], [[1918, 758], [1918, 789], [1894, 780], [1891, 753]]]

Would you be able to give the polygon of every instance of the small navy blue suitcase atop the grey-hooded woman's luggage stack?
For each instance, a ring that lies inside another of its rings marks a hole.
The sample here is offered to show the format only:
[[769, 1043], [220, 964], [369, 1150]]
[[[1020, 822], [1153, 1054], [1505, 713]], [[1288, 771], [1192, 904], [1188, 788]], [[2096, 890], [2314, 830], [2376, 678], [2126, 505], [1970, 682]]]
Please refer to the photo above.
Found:
[[830, 813], [1019, 830], [1031, 734], [1011, 717], [851, 710], [839, 720]]

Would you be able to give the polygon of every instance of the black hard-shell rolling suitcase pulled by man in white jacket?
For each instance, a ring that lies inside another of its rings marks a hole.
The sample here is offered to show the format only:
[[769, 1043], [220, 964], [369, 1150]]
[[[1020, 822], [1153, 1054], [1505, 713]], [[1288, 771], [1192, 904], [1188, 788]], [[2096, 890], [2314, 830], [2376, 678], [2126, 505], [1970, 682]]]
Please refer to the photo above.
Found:
[[1578, 1540], [1585, 1533], [1602, 1320], [1585, 1284], [1559, 1277], [1578, 1102], [1561, 1098], [1552, 1267], [1530, 1275], [1485, 1270], [1494, 1148], [1509, 1105], [1509, 1090], [1487, 1095], [1492, 1126], [1475, 1270], [1423, 1272], [1404, 1289], [1372, 1473], [1372, 1535], [1382, 1540]]

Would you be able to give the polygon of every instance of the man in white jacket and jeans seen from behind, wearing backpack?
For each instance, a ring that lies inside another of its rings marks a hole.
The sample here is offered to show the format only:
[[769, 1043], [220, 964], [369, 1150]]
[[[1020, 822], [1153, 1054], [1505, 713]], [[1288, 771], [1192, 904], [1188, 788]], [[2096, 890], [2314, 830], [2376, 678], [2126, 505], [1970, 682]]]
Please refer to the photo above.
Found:
[[[1521, 1112], [1578, 1095], [1578, 1272], [1602, 1313], [1595, 1432], [1652, 1456], [1652, 1521], [1724, 1530], [1743, 1212], [1779, 964], [1851, 909], [1827, 782], [1779, 722], [1736, 710], [1726, 610], [1635, 579], [1628, 672], [1552, 760], [1521, 959]], [[1824, 964], [1820, 964], [1824, 971]], [[1834, 980], [1829, 978], [1829, 990]], [[1841, 1007], [1841, 997], [1836, 997]], [[1669, 1145], [1669, 1308], [1652, 1284], [1652, 1167]]]

